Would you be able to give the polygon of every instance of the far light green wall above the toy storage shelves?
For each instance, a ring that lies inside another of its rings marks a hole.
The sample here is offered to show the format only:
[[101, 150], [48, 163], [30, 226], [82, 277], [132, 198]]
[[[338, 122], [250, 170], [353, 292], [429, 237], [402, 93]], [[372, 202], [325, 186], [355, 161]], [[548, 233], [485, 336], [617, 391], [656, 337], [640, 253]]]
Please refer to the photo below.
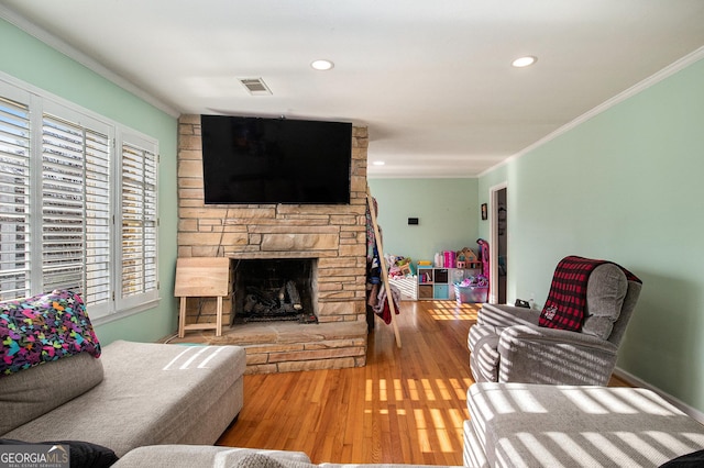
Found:
[[[370, 179], [384, 253], [432, 260], [437, 252], [476, 250], [477, 179]], [[418, 218], [418, 225], [408, 225]]]

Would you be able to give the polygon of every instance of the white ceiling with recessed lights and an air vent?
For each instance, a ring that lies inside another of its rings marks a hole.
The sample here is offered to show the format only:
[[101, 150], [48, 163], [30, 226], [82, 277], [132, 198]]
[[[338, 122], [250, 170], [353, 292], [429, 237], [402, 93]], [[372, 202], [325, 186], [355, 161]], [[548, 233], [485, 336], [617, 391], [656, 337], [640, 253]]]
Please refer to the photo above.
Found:
[[[1, 5], [3, 18], [61, 38], [53, 45], [175, 115], [367, 125], [370, 177], [476, 176], [704, 46], [703, 0]], [[522, 55], [537, 64], [512, 68]], [[314, 70], [317, 58], [334, 68]], [[238, 81], [258, 77], [273, 96]]]

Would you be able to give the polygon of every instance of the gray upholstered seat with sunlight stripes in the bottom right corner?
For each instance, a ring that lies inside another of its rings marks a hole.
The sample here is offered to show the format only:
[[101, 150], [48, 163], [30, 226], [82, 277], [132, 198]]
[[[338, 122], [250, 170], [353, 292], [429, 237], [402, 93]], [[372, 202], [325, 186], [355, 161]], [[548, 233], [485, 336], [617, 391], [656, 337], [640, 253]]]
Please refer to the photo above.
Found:
[[658, 467], [704, 449], [704, 426], [646, 389], [480, 382], [468, 408], [468, 467]]

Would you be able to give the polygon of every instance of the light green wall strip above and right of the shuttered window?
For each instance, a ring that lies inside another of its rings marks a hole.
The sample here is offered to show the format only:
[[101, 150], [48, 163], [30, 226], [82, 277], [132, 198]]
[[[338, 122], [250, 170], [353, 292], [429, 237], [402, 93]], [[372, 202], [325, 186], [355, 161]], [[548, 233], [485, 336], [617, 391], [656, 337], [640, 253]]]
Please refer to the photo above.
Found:
[[161, 301], [158, 307], [128, 317], [105, 324], [100, 324], [101, 321], [98, 320], [96, 333], [102, 344], [108, 344], [114, 339], [152, 342], [174, 332], [177, 326], [173, 288], [178, 222], [176, 118], [113, 85], [4, 20], [0, 20], [0, 71], [158, 140]]

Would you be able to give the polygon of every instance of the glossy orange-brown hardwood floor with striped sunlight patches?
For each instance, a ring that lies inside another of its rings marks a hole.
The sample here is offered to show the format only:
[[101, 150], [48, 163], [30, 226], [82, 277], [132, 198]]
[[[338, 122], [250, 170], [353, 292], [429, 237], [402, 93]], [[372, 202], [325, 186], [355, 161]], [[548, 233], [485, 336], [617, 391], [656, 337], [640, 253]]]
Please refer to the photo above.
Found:
[[300, 450], [314, 463], [462, 465], [476, 310], [404, 301], [403, 347], [376, 319], [365, 367], [245, 376], [244, 408], [218, 445]]

